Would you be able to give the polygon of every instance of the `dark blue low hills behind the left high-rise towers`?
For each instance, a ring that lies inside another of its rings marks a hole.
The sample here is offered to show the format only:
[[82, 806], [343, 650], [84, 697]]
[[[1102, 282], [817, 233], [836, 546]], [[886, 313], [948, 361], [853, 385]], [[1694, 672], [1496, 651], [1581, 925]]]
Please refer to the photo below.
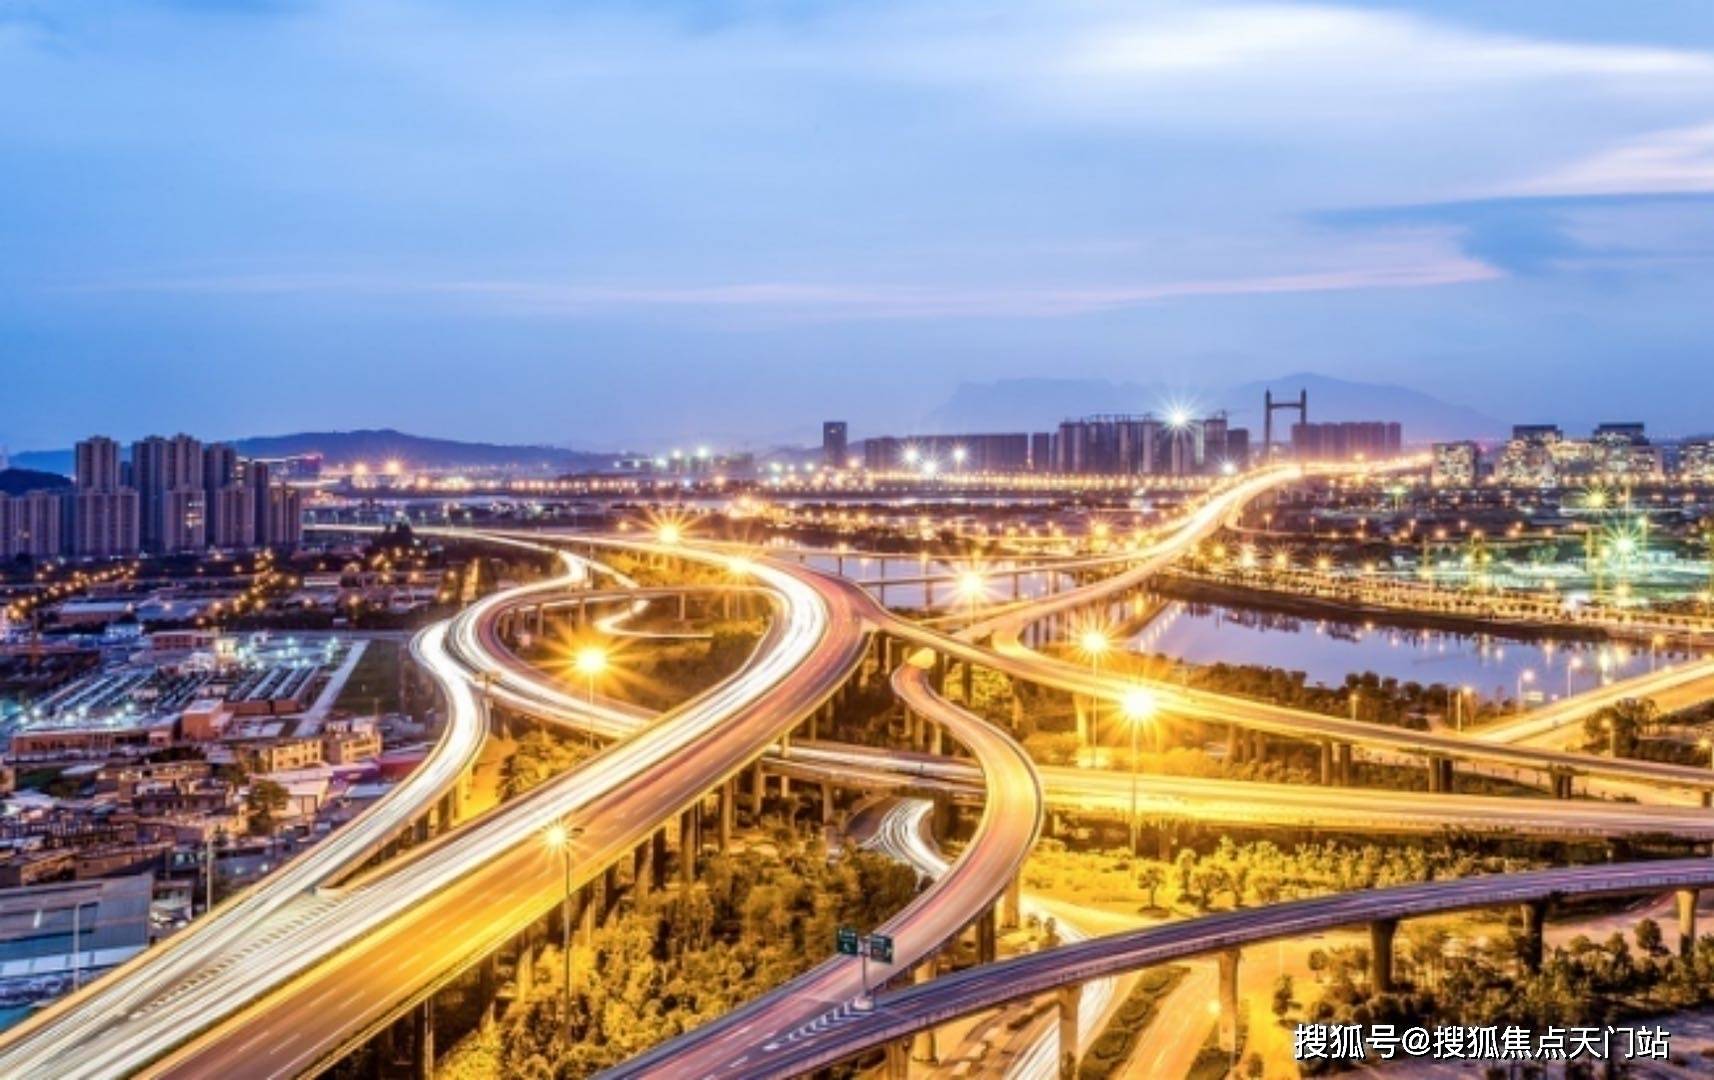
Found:
[[[579, 471], [610, 466], [614, 454], [574, 451], [560, 446], [514, 446], [504, 442], [461, 442], [430, 439], [393, 429], [355, 432], [297, 432], [291, 435], [254, 435], [225, 439], [245, 458], [290, 458], [321, 454], [327, 465], [365, 461], [381, 465], [399, 461], [406, 468], [538, 468], [543, 471]], [[12, 454], [12, 465], [48, 473], [70, 475], [72, 451], [27, 451]]]

